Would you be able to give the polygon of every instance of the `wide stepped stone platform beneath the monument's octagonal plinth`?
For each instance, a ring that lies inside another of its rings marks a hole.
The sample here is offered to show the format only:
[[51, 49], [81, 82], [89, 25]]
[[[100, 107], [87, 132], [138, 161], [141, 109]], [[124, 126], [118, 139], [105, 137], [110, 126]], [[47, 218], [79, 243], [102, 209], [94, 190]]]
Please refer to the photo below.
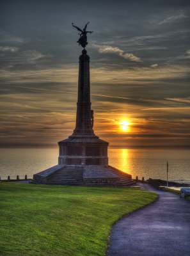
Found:
[[101, 165], [58, 164], [43, 172], [36, 173], [31, 183], [71, 186], [130, 186], [136, 182], [131, 175], [114, 168]]

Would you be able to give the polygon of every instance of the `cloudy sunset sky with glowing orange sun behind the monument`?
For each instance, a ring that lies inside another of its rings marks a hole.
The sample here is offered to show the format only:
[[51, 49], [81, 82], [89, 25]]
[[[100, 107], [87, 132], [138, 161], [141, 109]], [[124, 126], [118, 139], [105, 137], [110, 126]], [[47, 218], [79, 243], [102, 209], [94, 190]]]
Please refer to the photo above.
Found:
[[109, 147], [190, 148], [190, 1], [2, 0], [1, 146], [58, 147], [75, 128], [87, 22], [94, 131]]

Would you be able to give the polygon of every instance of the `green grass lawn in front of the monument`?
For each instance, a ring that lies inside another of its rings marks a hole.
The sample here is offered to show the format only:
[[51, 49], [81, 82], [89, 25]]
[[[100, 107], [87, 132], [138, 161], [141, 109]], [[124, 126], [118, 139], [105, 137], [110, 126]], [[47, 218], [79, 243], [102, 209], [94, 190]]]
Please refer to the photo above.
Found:
[[136, 188], [0, 182], [0, 254], [105, 255], [111, 225], [157, 195]]

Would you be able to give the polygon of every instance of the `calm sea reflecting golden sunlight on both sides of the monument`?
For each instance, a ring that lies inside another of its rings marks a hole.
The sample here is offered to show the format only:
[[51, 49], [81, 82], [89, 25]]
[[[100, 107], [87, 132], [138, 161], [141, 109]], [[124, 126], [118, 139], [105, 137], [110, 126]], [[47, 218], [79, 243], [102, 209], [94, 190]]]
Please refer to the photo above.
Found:
[[[169, 163], [168, 180], [190, 184], [190, 150], [109, 149], [109, 164], [141, 179], [166, 180], [166, 160]], [[12, 179], [16, 175], [33, 177], [58, 164], [58, 149], [0, 148], [0, 176]]]

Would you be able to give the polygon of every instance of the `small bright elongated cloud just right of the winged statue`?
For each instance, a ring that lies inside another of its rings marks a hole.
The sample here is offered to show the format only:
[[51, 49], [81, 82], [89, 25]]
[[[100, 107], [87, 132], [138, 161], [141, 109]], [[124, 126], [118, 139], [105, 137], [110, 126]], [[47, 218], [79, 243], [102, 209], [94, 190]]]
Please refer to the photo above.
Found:
[[113, 53], [125, 58], [126, 60], [142, 62], [141, 59], [134, 56], [134, 54], [127, 52], [125, 53], [118, 47], [112, 47], [109, 45], [93, 45], [93, 47], [97, 48], [100, 53]]

